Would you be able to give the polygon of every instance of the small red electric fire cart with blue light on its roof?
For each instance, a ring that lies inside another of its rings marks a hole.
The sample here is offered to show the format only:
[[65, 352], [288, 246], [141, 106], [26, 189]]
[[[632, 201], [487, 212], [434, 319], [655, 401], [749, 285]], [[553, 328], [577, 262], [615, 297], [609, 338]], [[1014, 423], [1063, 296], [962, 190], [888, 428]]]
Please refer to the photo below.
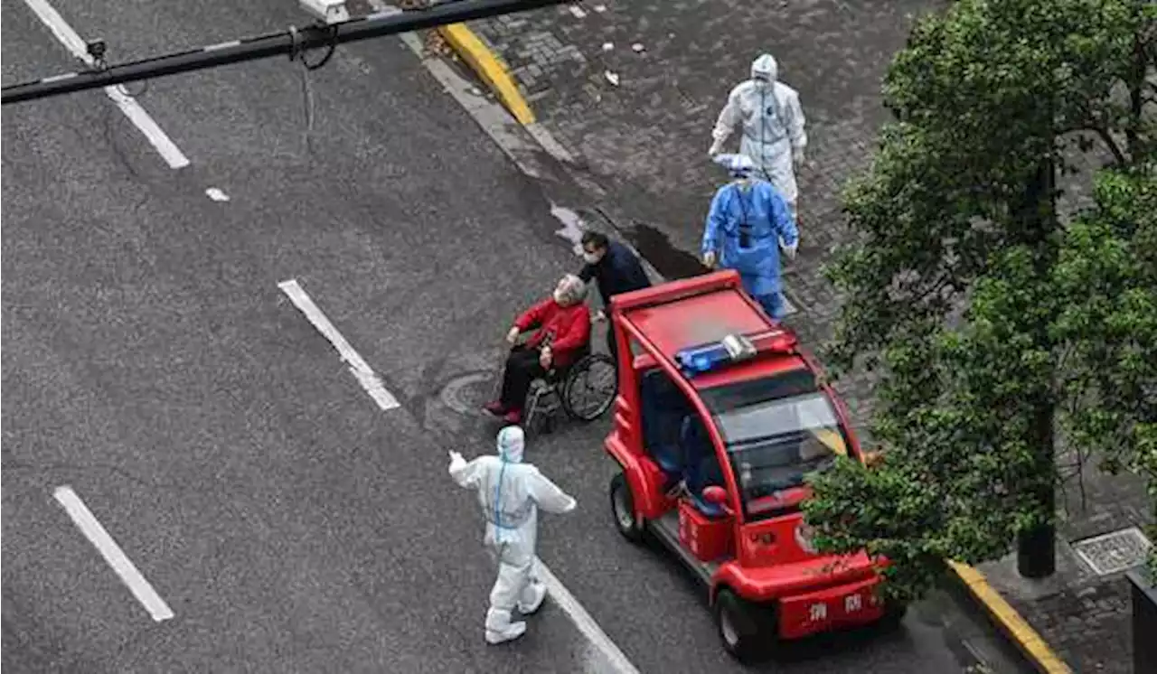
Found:
[[899, 621], [868, 555], [817, 554], [799, 512], [804, 475], [865, 460], [847, 412], [795, 334], [735, 272], [616, 296], [619, 393], [604, 446], [616, 526], [657, 539], [708, 587], [740, 660], [781, 639]]

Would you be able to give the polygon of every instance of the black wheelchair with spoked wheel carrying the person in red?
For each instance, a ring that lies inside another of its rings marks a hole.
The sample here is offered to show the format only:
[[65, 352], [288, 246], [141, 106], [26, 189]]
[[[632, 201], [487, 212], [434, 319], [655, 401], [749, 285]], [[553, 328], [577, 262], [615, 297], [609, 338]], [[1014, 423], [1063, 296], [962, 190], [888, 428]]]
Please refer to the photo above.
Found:
[[[503, 366], [499, 371], [500, 386], [504, 376]], [[548, 434], [554, 430], [559, 416], [595, 421], [606, 414], [618, 393], [614, 360], [592, 351], [588, 342], [573, 363], [551, 368], [545, 376], [531, 382], [523, 403], [522, 427], [526, 432]]]

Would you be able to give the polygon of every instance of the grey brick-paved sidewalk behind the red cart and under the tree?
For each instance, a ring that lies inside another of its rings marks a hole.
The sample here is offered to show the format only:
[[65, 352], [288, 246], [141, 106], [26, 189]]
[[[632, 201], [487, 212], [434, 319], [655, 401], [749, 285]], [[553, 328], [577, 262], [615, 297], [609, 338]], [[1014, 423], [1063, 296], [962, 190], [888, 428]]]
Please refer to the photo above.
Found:
[[[781, 79], [799, 90], [809, 134], [809, 165], [798, 176], [799, 258], [784, 272], [788, 298], [799, 309], [789, 323], [805, 341], [818, 343], [831, 334], [838, 306], [819, 267], [846, 236], [839, 190], [864, 165], [886, 118], [880, 79], [904, 45], [911, 16], [944, 3], [589, 0], [470, 28], [506, 61], [537, 125], [602, 188], [602, 205], [617, 225], [668, 276], [698, 271], [702, 217], [724, 179], [707, 148], [727, 92], [747, 76], [758, 53], [774, 54]], [[863, 428], [871, 382], [861, 375], [840, 387]], [[1074, 546], [1143, 527], [1147, 496], [1140, 482], [1100, 475], [1092, 466], [1081, 475], [1059, 498], [1063, 519], [1054, 578], [1019, 579], [1015, 557], [979, 570], [1071, 669], [1125, 674], [1132, 672], [1127, 582], [1112, 569], [1098, 575]], [[1095, 543], [1093, 563], [1099, 556], [1101, 564], [1112, 566], [1118, 558], [1127, 565], [1140, 550], [1133, 546]], [[974, 593], [996, 610], [980, 594]], [[1004, 627], [1001, 619], [994, 623]], [[1032, 638], [1023, 630], [1005, 631], [1014, 642]]]

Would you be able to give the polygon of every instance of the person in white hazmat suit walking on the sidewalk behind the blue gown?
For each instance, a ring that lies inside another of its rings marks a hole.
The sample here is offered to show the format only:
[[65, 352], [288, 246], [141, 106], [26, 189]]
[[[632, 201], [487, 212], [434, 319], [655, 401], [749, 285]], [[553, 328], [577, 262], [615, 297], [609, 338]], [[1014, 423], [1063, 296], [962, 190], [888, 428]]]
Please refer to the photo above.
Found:
[[760, 54], [751, 64], [751, 79], [728, 95], [712, 131], [712, 157], [723, 151], [737, 127], [743, 127], [739, 154], [756, 163], [761, 177], [788, 202], [791, 219], [798, 222], [799, 190], [795, 168], [803, 164], [808, 134], [804, 132], [799, 92], [779, 81], [779, 65], [772, 54]]

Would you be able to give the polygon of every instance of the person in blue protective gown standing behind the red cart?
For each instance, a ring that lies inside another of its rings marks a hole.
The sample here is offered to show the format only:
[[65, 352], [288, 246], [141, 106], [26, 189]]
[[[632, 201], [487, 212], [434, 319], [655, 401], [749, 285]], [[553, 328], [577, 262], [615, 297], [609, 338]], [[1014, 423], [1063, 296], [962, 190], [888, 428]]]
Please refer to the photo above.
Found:
[[783, 318], [780, 247], [795, 257], [799, 231], [783, 197], [753, 177], [746, 155], [718, 155], [734, 178], [715, 192], [703, 228], [703, 265], [735, 269], [743, 288], [775, 320]]

